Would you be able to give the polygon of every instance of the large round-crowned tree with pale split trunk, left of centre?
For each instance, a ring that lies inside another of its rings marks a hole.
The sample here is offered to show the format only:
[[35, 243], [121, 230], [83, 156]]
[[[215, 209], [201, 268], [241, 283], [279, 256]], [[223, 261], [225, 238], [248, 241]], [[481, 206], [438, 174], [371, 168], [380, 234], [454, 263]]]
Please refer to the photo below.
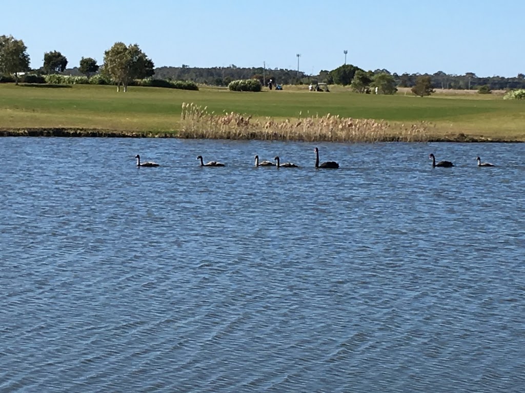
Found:
[[122, 84], [124, 92], [128, 91], [128, 84], [133, 79], [142, 79], [153, 75], [153, 61], [140, 50], [135, 43], [126, 46], [123, 42], [116, 42], [104, 52], [104, 72], [117, 82], [117, 91]]

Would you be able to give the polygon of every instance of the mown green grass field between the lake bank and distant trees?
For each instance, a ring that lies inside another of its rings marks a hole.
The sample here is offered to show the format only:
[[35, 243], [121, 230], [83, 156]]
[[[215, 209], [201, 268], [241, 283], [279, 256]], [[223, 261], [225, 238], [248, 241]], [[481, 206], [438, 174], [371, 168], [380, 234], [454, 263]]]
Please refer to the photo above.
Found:
[[176, 132], [183, 102], [215, 113], [237, 112], [276, 119], [316, 115], [383, 119], [393, 126], [430, 122], [437, 135], [525, 140], [525, 102], [501, 95], [434, 94], [415, 97], [356, 94], [334, 86], [309, 92], [308, 86], [283, 91], [230, 92], [114, 86], [0, 84], [0, 129], [90, 128], [122, 132]]

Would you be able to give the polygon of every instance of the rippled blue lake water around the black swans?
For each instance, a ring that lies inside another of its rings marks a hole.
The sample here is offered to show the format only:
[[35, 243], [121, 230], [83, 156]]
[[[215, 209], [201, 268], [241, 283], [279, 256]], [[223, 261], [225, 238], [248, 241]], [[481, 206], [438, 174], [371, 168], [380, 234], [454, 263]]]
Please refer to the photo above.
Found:
[[522, 150], [0, 138], [0, 391], [523, 391]]

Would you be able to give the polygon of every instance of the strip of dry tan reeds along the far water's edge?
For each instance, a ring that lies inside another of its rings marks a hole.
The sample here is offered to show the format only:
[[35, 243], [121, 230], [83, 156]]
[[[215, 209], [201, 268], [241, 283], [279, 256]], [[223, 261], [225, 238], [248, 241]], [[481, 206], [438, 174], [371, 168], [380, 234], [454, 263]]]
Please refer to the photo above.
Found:
[[327, 114], [276, 120], [253, 118], [235, 112], [216, 114], [207, 107], [183, 103], [178, 136], [195, 139], [259, 139], [330, 142], [428, 141], [430, 123], [392, 126], [374, 119]]

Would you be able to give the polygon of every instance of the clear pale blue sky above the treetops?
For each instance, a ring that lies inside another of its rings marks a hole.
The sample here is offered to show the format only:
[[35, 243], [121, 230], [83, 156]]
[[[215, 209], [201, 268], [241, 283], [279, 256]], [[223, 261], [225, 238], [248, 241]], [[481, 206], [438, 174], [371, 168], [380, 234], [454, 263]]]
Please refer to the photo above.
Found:
[[515, 77], [525, 73], [524, 0], [91, 0], [2, 2], [0, 35], [24, 40], [31, 67], [58, 50], [68, 67], [138, 43], [155, 67], [365, 70]]

